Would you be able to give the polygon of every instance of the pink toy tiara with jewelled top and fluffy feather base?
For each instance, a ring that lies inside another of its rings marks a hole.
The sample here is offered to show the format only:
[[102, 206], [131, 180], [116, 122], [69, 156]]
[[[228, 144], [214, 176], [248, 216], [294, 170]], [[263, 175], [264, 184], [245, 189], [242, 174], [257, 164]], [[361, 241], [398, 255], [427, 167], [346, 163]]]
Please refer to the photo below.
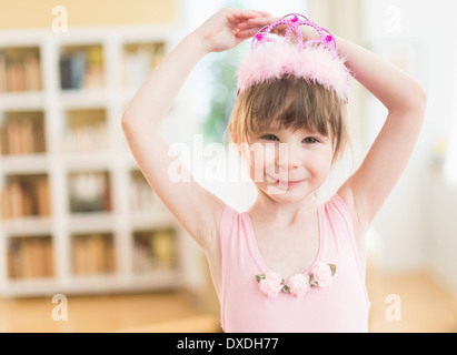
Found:
[[[272, 34], [277, 26], [287, 26], [284, 37]], [[319, 37], [304, 41], [301, 26], [314, 28]], [[295, 33], [296, 42], [290, 40]], [[289, 13], [260, 29], [251, 51], [238, 68], [238, 91], [287, 75], [317, 82], [348, 101], [349, 70], [338, 55], [334, 36], [299, 13]]]

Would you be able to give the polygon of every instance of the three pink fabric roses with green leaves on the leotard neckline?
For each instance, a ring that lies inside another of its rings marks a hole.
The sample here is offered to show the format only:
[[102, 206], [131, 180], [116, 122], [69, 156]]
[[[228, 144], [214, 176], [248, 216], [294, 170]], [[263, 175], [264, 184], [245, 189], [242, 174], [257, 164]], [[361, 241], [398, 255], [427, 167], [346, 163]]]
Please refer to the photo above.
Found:
[[260, 292], [268, 296], [275, 297], [281, 291], [296, 297], [302, 297], [311, 291], [312, 287], [326, 287], [334, 278], [337, 271], [335, 264], [318, 263], [309, 275], [296, 274], [288, 280], [284, 280], [277, 273], [267, 273], [256, 275]]

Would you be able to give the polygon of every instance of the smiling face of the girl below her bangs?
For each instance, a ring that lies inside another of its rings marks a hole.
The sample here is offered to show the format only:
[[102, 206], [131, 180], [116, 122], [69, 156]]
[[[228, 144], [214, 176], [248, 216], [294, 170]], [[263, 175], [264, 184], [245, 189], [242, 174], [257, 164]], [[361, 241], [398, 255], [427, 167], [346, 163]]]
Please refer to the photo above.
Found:
[[299, 202], [324, 184], [332, 156], [329, 136], [271, 126], [250, 140], [250, 178], [276, 202]]

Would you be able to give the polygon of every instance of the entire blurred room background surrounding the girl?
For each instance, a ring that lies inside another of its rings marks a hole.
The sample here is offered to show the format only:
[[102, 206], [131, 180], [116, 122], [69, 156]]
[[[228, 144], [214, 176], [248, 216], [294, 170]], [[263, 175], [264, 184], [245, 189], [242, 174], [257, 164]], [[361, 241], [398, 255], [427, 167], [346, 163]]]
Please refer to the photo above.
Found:
[[[203, 254], [147, 185], [120, 118], [163, 55], [222, 7], [307, 14], [427, 90], [415, 153], [368, 235], [369, 326], [456, 332], [453, 0], [2, 0], [0, 332], [220, 332]], [[163, 123], [170, 143], [201, 154], [222, 142], [247, 50], [197, 65]], [[352, 80], [350, 150], [322, 199], [360, 164], [386, 113]], [[252, 184], [223, 176], [200, 183], [246, 210]]]

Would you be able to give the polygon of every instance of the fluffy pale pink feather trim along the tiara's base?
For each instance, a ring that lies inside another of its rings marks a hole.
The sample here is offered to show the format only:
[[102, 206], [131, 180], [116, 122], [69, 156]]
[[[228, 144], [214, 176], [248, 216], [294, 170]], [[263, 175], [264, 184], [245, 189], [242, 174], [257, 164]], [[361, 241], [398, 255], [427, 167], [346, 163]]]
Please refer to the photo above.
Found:
[[317, 82], [348, 101], [349, 71], [344, 59], [322, 47], [299, 50], [289, 43], [260, 45], [241, 61], [238, 68], [238, 89], [280, 79], [287, 74]]

